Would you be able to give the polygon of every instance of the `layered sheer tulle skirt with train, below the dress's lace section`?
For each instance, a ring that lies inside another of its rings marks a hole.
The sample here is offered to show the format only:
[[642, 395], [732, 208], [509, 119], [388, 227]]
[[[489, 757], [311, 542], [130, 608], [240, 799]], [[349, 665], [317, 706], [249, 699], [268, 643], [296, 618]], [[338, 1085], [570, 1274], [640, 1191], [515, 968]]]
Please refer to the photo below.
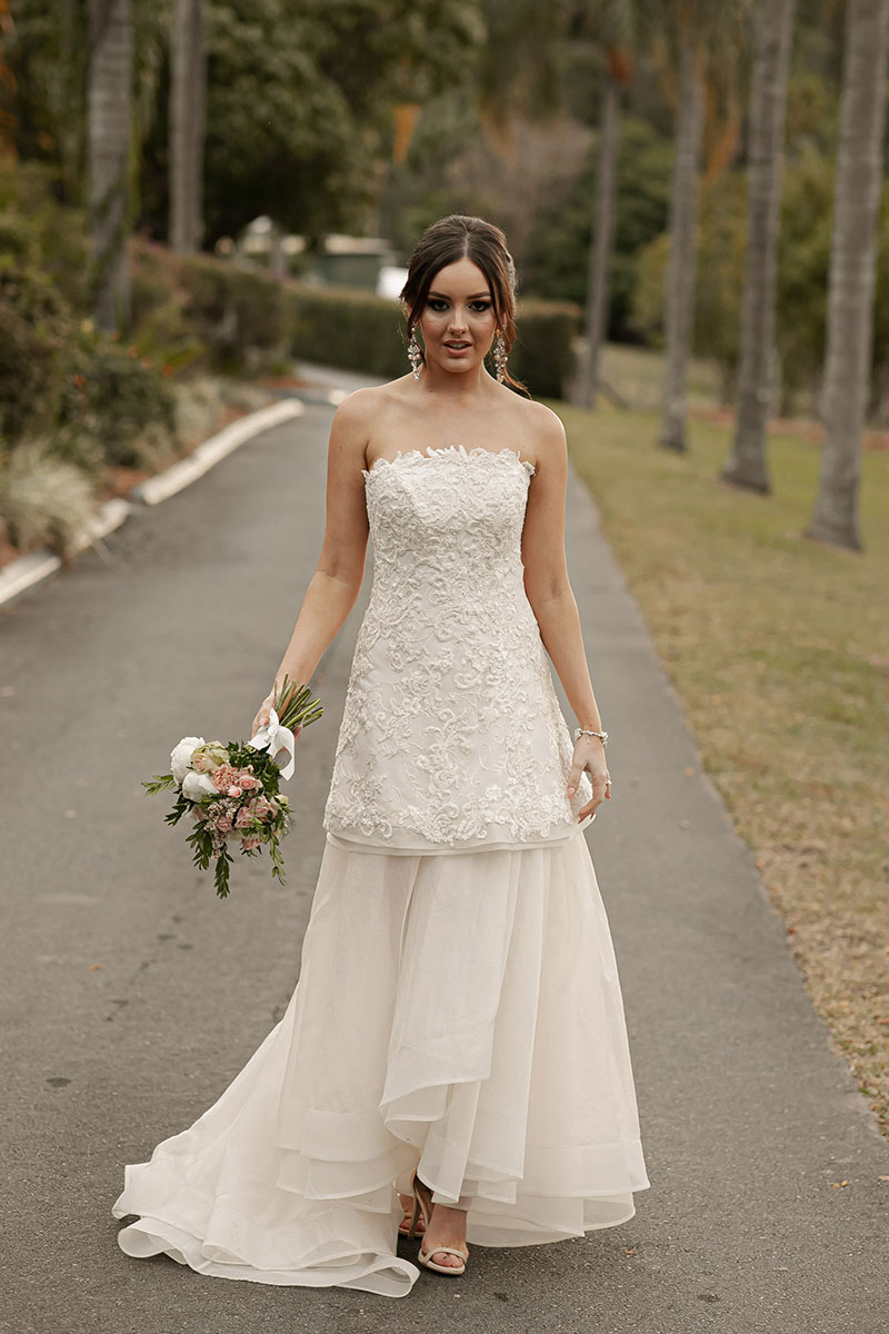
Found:
[[397, 1190], [525, 1246], [648, 1186], [610, 934], [582, 835], [389, 856], [328, 842], [281, 1022], [219, 1102], [127, 1167], [129, 1255], [405, 1295]]

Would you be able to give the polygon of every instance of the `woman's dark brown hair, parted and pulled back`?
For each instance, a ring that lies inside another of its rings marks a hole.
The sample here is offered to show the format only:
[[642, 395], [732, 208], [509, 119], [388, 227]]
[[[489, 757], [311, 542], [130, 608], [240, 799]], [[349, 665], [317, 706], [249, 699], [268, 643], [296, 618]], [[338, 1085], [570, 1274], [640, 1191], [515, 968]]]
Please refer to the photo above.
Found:
[[[427, 227], [408, 260], [408, 280], [401, 289], [408, 338], [420, 320], [436, 273], [458, 259], [470, 259], [485, 275], [497, 327], [502, 331], [504, 347], [509, 354], [516, 342], [516, 265], [506, 248], [506, 237], [498, 227], [482, 217], [466, 217], [462, 213], [452, 213]], [[425, 362], [425, 352], [423, 360]], [[509, 371], [504, 372], [504, 379], [514, 388], [528, 392], [524, 384], [513, 380]]]

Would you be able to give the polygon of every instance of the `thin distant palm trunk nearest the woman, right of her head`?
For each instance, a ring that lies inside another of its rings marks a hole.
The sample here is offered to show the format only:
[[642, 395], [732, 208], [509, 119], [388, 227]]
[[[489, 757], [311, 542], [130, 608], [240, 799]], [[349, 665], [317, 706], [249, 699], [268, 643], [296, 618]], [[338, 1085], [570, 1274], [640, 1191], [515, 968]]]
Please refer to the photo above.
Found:
[[598, 173], [593, 200], [593, 225], [586, 269], [586, 355], [582, 362], [577, 402], [596, 406], [598, 363], [605, 340], [608, 289], [614, 247], [614, 189], [617, 180], [617, 145], [620, 140], [620, 87], [610, 71], [605, 72], [602, 119], [598, 129]]

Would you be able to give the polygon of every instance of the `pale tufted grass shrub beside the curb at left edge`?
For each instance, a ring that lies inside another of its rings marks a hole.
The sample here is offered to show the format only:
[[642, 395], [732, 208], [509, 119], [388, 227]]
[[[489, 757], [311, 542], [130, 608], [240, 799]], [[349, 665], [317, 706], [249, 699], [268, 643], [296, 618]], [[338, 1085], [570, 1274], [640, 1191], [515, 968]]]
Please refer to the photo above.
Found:
[[13, 547], [48, 546], [65, 558], [93, 508], [89, 480], [48, 444], [0, 451], [0, 526]]

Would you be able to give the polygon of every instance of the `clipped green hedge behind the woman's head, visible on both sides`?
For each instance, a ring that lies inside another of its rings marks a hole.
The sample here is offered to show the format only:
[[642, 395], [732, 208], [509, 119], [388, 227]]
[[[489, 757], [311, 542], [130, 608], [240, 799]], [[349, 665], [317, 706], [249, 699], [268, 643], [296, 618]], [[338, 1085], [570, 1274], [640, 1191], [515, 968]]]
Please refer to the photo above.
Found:
[[[396, 301], [345, 288], [287, 288], [291, 348], [305, 362], [395, 379], [408, 371], [404, 320]], [[561, 398], [572, 371], [580, 311], [568, 303], [521, 301], [509, 371], [540, 398]]]

